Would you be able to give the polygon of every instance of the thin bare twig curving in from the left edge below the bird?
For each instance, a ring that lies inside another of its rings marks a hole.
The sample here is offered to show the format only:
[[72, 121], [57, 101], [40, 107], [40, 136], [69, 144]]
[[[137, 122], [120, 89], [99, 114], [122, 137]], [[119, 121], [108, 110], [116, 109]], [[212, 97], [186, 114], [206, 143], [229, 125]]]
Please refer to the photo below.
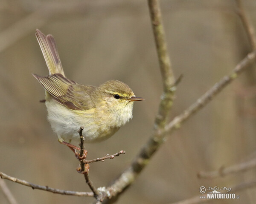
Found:
[[92, 192], [78, 192], [78, 191], [70, 191], [70, 190], [60, 190], [60, 189], [55, 189], [55, 188], [51, 188], [48, 186], [40, 186], [37, 184], [32, 184], [29, 183], [28, 181], [24, 181], [24, 180], [20, 180], [19, 178], [15, 178], [12, 176], [8, 176], [7, 174], [0, 172], [0, 177], [3, 179], [7, 179], [9, 181], [13, 181], [15, 183], [18, 184], [22, 184], [28, 187], [32, 187], [32, 189], [38, 189], [38, 190], [45, 190], [45, 191], [49, 191], [51, 193], [57, 193], [57, 194], [62, 194], [62, 195], [76, 195], [76, 196], [89, 196], [89, 197], [93, 197], [93, 193]]

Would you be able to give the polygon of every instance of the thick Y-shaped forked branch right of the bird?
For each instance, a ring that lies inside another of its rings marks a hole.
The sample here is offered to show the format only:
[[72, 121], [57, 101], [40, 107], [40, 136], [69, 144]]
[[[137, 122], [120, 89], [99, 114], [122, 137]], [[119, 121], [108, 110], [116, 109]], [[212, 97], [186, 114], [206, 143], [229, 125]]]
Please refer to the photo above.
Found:
[[[248, 54], [239, 64], [234, 68], [230, 75], [223, 77], [218, 83], [216, 83], [209, 91], [207, 91], [203, 96], [201, 96], [197, 102], [190, 106], [187, 110], [181, 113], [179, 116], [176, 116], [168, 125], [166, 125], [167, 115], [172, 106], [173, 96], [175, 87], [174, 77], [172, 70], [169, 64], [169, 58], [163, 60], [165, 57], [168, 57], [166, 54], [166, 42], [164, 41], [163, 35], [163, 25], [161, 22], [160, 8], [157, 0], [148, 0], [148, 5], [151, 13], [151, 21], [154, 30], [155, 41], [157, 45], [157, 54], [160, 61], [160, 70], [163, 77], [164, 85], [164, 94], [161, 98], [159, 111], [154, 123], [153, 136], [148, 140], [148, 142], [141, 148], [138, 155], [134, 158], [131, 165], [117, 178], [113, 181], [113, 184], [107, 188], [111, 192], [111, 196], [117, 196], [127, 189], [128, 186], [134, 181], [138, 174], [143, 170], [143, 168], [148, 164], [149, 159], [154, 155], [157, 149], [161, 146], [163, 141], [166, 138], [167, 133], [171, 133], [172, 130], [175, 130], [180, 127], [182, 122], [185, 122], [197, 111], [201, 110], [208, 102], [216, 96], [220, 91], [223, 90], [233, 79], [236, 79], [238, 74], [244, 71], [247, 66], [252, 63], [256, 58], [256, 51]], [[158, 37], [157, 37], [158, 35]], [[163, 41], [162, 41], [163, 40]], [[162, 41], [163, 43], [160, 43]], [[161, 47], [162, 45], [162, 47]], [[163, 65], [164, 62], [167, 62]], [[166, 67], [169, 66], [169, 69]], [[166, 77], [169, 76], [169, 77]], [[171, 82], [172, 81], [172, 82]], [[168, 87], [168, 88], [166, 88]]]

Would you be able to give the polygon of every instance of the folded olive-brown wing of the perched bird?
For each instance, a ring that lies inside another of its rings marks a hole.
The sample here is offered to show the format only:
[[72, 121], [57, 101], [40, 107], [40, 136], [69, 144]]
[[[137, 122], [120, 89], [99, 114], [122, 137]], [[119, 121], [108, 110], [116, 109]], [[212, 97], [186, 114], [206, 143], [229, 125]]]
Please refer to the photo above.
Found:
[[33, 76], [52, 96], [53, 99], [73, 110], [87, 110], [94, 108], [91, 93], [95, 91], [94, 86], [80, 85], [61, 74], [53, 74], [41, 77], [36, 74]]

